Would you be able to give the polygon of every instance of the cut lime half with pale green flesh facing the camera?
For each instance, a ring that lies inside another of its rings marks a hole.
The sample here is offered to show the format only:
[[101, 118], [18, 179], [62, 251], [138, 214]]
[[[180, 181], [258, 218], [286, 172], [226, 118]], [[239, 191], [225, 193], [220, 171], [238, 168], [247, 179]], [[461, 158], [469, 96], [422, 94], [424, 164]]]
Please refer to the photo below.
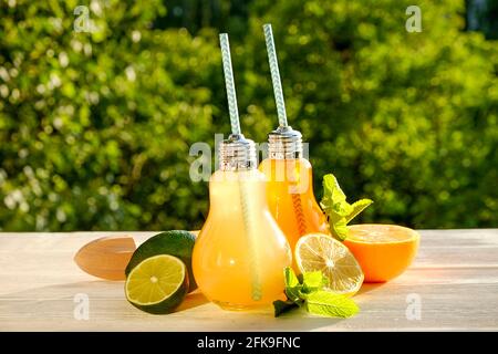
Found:
[[126, 278], [126, 299], [149, 313], [168, 313], [188, 292], [187, 268], [176, 257], [159, 254], [138, 263]]

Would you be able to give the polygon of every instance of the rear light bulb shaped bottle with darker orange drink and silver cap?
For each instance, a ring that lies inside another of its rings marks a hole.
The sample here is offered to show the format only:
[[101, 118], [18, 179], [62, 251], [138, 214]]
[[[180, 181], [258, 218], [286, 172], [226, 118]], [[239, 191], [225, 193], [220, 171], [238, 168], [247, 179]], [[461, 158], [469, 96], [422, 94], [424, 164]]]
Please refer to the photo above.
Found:
[[301, 133], [280, 126], [269, 134], [268, 158], [259, 169], [267, 177], [267, 199], [273, 218], [294, 250], [305, 233], [329, 232], [313, 194], [312, 167], [303, 157]]

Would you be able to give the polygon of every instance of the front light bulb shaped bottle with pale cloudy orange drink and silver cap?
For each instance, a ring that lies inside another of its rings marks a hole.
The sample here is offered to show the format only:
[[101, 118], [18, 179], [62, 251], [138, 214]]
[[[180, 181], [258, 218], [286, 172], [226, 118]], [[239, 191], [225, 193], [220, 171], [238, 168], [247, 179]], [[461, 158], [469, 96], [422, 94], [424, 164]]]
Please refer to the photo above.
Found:
[[209, 180], [209, 214], [194, 247], [196, 282], [226, 310], [270, 305], [283, 296], [289, 243], [268, 209], [253, 142], [231, 135], [219, 156], [220, 168]]

